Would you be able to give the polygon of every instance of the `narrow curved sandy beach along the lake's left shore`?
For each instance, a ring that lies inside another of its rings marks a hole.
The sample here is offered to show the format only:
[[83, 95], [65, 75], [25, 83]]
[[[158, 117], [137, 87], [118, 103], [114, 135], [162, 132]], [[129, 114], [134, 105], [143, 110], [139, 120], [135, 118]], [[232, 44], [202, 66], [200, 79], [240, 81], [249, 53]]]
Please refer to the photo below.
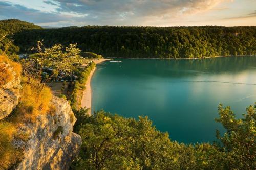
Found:
[[[104, 61], [108, 61], [110, 59], [99, 59], [99, 60], [92, 60], [95, 62], [95, 64], [102, 63]], [[82, 101], [81, 101], [81, 107], [86, 107], [90, 108], [89, 110], [89, 115], [91, 115], [92, 110], [91, 110], [91, 105], [92, 105], [92, 89], [91, 89], [91, 78], [96, 70], [96, 67], [91, 71], [89, 77], [87, 78], [86, 81], [86, 89], [83, 90], [83, 95], [82, 95]]]

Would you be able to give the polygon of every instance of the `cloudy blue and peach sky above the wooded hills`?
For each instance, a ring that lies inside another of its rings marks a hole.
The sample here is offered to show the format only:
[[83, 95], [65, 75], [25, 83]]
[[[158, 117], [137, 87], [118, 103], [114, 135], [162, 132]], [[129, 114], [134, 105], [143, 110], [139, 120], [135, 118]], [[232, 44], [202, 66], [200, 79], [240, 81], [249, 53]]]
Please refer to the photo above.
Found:
[[256, 26], [256, 0], [0, 0], [0, 20], [40, 26]]

